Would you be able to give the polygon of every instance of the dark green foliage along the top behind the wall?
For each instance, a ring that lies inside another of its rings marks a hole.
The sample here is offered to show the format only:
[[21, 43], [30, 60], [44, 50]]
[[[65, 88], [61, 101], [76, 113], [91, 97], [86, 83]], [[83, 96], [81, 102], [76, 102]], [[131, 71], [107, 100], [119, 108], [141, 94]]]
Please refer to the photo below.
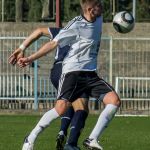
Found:
[[[22, 1], [20, 21], [27, 22], [41, 22], [41, 21], [55, 21], [55, 10], [52, 10], [52, 5], [56, 0], [19, 0]], [[42, 7], [44, 1], [49, 1], [49, 12], [53, 17], [47, 16], [46, 20], [42, 20]], [[113, 18], [112, 0], [103, 0], [103, 15], [105, 22], [111, 22]], [[16, 3], [18, 0], [4, 0], [4, 21], [18, 21], [16, 20]], [[55, 4], [54, 4], [55, 5]], [[132, 11], [131, 0], [115, 0], [115, 11], [128, 10]], [[19, 10], [18, 10], [19, 11]], [[0, 21], [2, 20], [2, 0], [0, 0]], [[61, 20], [68, 21], [74, 16], [80, 14], [79, 0], [61, 0]], [[136, 21], [150, 22], [150, 1], [136, 0]]]

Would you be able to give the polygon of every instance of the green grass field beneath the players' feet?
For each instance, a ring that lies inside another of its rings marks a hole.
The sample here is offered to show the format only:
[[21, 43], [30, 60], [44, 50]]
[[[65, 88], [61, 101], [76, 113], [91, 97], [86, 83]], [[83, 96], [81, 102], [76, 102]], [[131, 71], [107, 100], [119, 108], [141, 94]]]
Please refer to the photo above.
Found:
[[[82, 141], [94, 126], [97, 115], [90, 115], [79, 139]], [[40, 116], [0, 115], [0, 150], [21, 150], [24, 136]], [[60, 120], [56, 120], [37, 139], [34, 150], [55, 150], [55, 137]], [[104, 150], [150, 150], [150, 117], [115, 117], [101, 140]]]

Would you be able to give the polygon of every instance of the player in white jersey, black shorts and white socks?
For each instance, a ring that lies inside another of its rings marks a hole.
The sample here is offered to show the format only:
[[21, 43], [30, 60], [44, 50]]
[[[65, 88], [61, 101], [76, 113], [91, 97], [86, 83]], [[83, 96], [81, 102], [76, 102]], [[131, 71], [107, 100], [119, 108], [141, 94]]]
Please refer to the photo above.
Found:
[[[36, 127], [31, 131], [23, 145], [23, 150], [32, 150], [33, 144], [51, 121], [58, 118], [67, 109], [68, 102], [75, 101], [82, 93], [88, 94], [105, 104], [94, 130], [84, 141], [84, 146], [91, 150], [102, 150], [97, 140], [120, 106], [120, 99], [114, 89], [96, 74], [97, 55], [101, 38], [101, 3], [99, 0], [81, 0], [83, 15], [73, 19], [61, 32], [29, 57], [21, 58], [20, 67], [54, 50], [57, 46], [70, 44], [70, 50], [63, 61], [63, 74], [60, 79], [57, 103], [55, 107], [43, 115]], [[51, 116], [45, 122], [46, 115]], [[64, 150], [71, 150], [66, 145]], [[75, 150], [73, 148], [73, 150]]]

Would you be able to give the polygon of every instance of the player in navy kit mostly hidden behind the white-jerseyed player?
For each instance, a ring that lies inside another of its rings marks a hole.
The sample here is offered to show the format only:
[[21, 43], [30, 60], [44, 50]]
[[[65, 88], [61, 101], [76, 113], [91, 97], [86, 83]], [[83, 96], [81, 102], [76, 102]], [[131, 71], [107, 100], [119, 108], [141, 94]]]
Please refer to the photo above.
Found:
[[[9, 61], [11, 64], [16, 64], [19, 58], [24, 57], [25, 49], [28, 48], [35, 40], [39, 39], [41, 36], [47, 36], [50, 39], [53, 39], [58, 33], [59, 28], [38, 28], [36, 29], [21, 45], [17, 48], [13, 54], [10, 56]], [[58, 89], [59, 78], [62, 72], [62, 61], [67, 55], [69, 46], [63, 48], [58, 47], [55, 55], [55, 61], [53, 68], [51, 69], [50, 79], [52, 84], [56, 89]], [[71, 123], [71, 132], [68, 144], [73, 147], [77, 147], [78, 138], [80, 136], [81, 130], [84, 128], [85, 120], [88, 115], [88, 94], [83, 94], [75, 103], [73, 103], [74, 109], [77, 111], [74, 112], [72, 106], [70, 106], [66, 113], [61, 117], [61, 126], [59, 134], [56, 139], [56, 149], [63, 150], [64, 144], [67, 137], [67, 129]], [[50, 117], [47, 116], [47, 120]]]

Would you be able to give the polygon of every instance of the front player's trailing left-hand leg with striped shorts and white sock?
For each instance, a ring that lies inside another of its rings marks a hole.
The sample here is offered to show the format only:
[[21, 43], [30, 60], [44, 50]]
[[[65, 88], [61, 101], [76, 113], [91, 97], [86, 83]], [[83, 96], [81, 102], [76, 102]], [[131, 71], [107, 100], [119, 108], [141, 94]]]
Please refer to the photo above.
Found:
[[83, 89], [80, 89], [80, 92], [78, 92], [79, 90], [76, 88], [78, 76], [79, 72], [61, 75], [58, 88], [58, 101], [56, 102], [55, 108], [43, 115], [36, 127], [26, 138], [23, 145], [23, 150], [32, 150], [36, 138], [43, 131], [43, 129], [45, 129], [54, 119], [64, 114], [67, 110], [69, 101], [73, 102], [77, 99], [79, 94], [83, 93]]

